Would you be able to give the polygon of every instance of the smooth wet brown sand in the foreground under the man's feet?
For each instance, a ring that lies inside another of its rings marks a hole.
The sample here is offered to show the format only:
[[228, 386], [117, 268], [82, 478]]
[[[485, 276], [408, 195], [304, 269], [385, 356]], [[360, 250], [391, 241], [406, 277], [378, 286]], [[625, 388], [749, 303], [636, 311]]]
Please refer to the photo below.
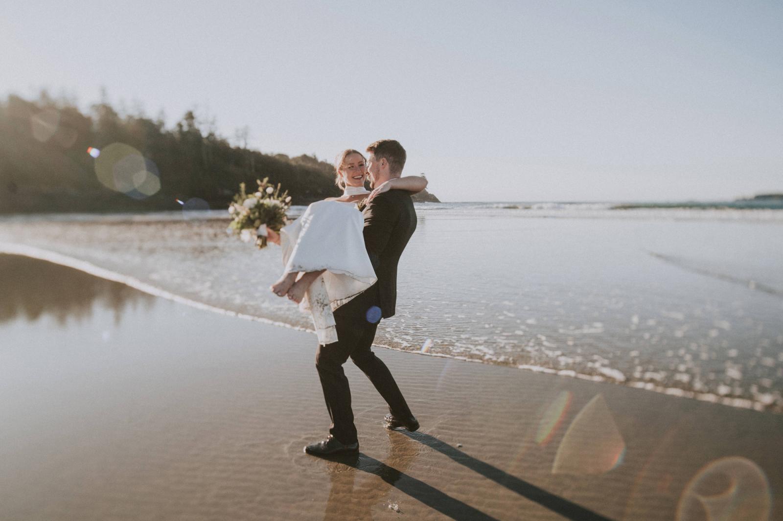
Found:
[[327, 461], [311, 334], [0, 259], [0, 519], [783, 519], [783, 415], [380, 349]]

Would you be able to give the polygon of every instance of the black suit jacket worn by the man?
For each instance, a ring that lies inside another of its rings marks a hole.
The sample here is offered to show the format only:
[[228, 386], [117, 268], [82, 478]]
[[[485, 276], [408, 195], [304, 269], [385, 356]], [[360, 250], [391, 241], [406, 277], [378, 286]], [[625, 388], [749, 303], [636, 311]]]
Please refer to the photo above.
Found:
[[397, 304], [397, 264], [416, 230], [416, 210], [410, 192], [389, 190], [375, 196], [363, 215], [364, 246], [378, 278], [366, 293], [381, 307], [381, 317], [389, 318]]

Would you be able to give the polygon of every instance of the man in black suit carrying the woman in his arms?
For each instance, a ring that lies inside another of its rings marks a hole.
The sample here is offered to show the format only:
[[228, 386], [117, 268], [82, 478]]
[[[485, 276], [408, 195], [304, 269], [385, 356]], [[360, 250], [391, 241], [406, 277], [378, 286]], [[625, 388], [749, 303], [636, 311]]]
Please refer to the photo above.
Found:
[[[367, 171], [373, 188], [402, 174], [406, 153], [399, 142], [381, 139], [368, 146], [367, 152]], [[384, 419], [386, 427], [405, 427], [410, 431], [419, 428], [391, 372], [370, 349], [378, 322], [395, 314], [397, 264], [417, 222], [410, 192], [382, 192], [370, 199], [363, 215], [364, 244], [378, 280], [334, 311], [339, 340], [318, 348], [316, 368], [332, 425], [326, 440], [305, 447], [305, 452], [312, 455], [359, 451], [351, 390], [342, 368], [349, 357], [388, 403], [390, 414]]]

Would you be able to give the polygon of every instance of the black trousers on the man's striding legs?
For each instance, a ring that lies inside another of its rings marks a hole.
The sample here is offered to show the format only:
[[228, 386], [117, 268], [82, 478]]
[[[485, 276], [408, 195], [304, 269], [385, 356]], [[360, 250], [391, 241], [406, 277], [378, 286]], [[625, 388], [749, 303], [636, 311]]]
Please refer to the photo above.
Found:
[[[367, 311], [371, 307], [368, 304], [372, 300], [363, 296], [364, 294], [355, 297], [334, 311], [338, 340], [319, 346], [316, 354], [316, 368], [323, 388], [323, 398], [327, 402], [332, 420], [329, 433], [344, 444], [352, 444], [357, 440], [351, 408], [351, 389], [342, 368], [349, 357], [356, 367], [367, 375], [378, 393], [381, 393], [391, 414], [398, 417], [411, 414], [391, 372], [371, 350], [378, 324], [367, 319]], [[372, 312], [370, 318], [375, 318]]]

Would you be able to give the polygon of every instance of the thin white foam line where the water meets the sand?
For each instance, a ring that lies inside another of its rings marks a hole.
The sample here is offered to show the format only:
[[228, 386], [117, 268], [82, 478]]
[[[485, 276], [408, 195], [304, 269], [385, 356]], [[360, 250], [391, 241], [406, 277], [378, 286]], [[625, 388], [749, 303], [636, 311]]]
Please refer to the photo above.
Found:
[[[288, 324], [287, 322], [280, 322], [269, 318], [258, 317], [252, 314], [244, 314], [237, 311], [231, 311], [222, 307], [205, 304], [203, 302], [199, 302], [198, 300], [189, 299], [185, 296], [180, 296], [175, 293], [171, 293], [165, 289], [158, 288], [157, 286], [153, 286], [152, 284], [149, 284], [147, 282], [142, 282], [138, 278], [134, 278], [130, 275], [124, 275], [116, 271], [108, 270], [106, 268], [100, 268], [99, 266], [96, 266], [95, 264], [92, 264], [86, 260], [80, 260], [76, 257], [70, 257], [62, 253], [54, 252], [52, 250], [45, 250], [37, 246], [30, 246], [30, 245], [24, 245], [19, 243], [0, 242], [0, 254], [20, 255], [23, 257], [30, 257], [33, 259], [45, 260], [53, 264], [59, 264], [60, 266], [65, 266], [67, 268], [74, 268], [79, 271], [83, 271], [88, 275], [94, 275], [99, 278], [104, 278], [106, 280], [110, 280], [113, 282], [119, 282], [121, 284], [124, 284], [125, 286], [132, 287], [133, 289], [138, 289], [143, 293], [148, 293], [152, 296], [158, 296], [161, 298], [165, 298], [167, 300], [172, 300], [174, 302], [178, 302], [179, 304], [185, 304], [189, 307], [194, 307], [196, 309], [211, 311], [216, 314], [222, 314], [222, 315], [232, 316], [236, 318], [242, 318], [244, 320], [250, 320], [253, 322], [261, 322], [264, 324], [275, 325], [277, 327], [282, 327], [285, 329], [293, 329], [295, 331], [308, 332], [312, 335], [316, 334], [315, 330], [313, 329], [301, 327], [298, 325], [291, 325]], [[623, 379], [618, 379], [616, 377], [612, 378], [611, 375], [606, 375], [606, 376], [588, 375], [579, 372], [574, 372], [572, 370], [557, 370], [557, 369], [547, 368], [539, 365], [513, 365], [513, 364], [493, 363], [482, 359], [467, 358], [463, 356], [406, 350], [399, 347], [384, 345], [382, 343], [373, 343], [373, 347], [382, 347], [387, 350], [395, 350], [408, 354], [420, 354], [433, 358], [444, 358], [449, 360], [474, 362], [482, 365], [515, 368], [522, 371], [529, 371], [529, 372], [551, 375], [551, 376], [559, 376], [562, 378], [581, 379], [594, 383], [610, 383], [613, 385], [625, 386], [630, 389], [661, 393], [669, 397], [703, 401], [711, 404], [722, 404], [732, 408], [749, 409], [752, 411], [766, 412], [772, 414], [781, 414], [781, 412], [783, 412], [783, 410], [769, 408], [770, 404], [765, 404], [760, 401], [752, 401], [746, 398], [721, 397], [720, 395], [717, 395], [715, 393], [698, 393], [696, 391], [683, 390], [680, 389], [679, 387], [655, 386], [655, 384], [653, 383], [643, 383], [643, 382], [624, 383], [624, 377]]]

